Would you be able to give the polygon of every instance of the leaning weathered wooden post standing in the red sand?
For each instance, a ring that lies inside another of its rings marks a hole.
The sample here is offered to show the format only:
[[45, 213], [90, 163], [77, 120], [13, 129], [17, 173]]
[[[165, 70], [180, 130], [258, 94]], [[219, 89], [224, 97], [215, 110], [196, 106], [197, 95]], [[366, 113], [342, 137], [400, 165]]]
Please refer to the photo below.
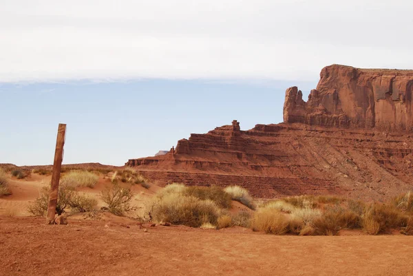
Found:
[[50, 184], [49, 206], [47, 207], [47, 224], [54, 224], [56, 214], [57, 195], [59, 191], [59, 180], [63, 161], [63, 146], [65, 145], [66, 125], [59, 124], [57, 130], [56, 150], [54, 151], [54, 162], [52, 172], [52, 183]]

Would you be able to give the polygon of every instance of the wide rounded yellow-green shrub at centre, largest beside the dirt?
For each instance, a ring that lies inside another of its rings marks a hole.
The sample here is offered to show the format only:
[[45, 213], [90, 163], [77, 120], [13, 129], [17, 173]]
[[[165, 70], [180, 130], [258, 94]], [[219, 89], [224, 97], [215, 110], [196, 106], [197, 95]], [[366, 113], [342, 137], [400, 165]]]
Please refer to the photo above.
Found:
[[200, 200], [180, 193], [163, 195], [154, 204], [151, 215], [156, 222], [170, 222], [191, 227], [204, 223], [216, 224], [220, 209], [211, 200]]

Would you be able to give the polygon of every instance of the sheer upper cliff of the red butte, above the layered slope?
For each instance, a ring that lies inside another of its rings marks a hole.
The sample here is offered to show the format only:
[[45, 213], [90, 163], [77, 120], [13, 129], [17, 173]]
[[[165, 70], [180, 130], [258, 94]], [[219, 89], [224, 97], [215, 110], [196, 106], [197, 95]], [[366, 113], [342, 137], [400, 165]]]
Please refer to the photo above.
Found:
[[317, 89], [302, 99], [286, 90], [285, 123], [325, 127], [413, 129], [413, 70], [368, 70], [331, 65], [321, 70]]

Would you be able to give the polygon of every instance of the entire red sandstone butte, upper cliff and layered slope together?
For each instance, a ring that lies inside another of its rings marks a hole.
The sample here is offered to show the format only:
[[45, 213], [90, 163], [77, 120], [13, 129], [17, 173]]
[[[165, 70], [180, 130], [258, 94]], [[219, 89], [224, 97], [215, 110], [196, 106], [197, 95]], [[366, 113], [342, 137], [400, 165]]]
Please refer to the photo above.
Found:
[[307, 103], [287, 89], [284, 123], [243, 131], [234, 120], [126, 165], [151, 180], [237, 184], [260, 198], [383, 200], [413, 187], [412, 83], [413, 71], [331, 65]]

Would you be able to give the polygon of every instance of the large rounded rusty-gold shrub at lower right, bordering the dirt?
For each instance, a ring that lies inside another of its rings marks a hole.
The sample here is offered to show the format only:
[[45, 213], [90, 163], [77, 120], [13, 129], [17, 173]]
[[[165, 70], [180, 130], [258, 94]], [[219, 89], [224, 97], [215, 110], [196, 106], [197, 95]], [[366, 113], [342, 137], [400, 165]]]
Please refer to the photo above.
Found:
[[[390, 229], [396, 229], [406, 226], [407, 219], [399, 210], [394, 206], [387, 204], [372, 203], [366, 206], [363, 213], [363, 229], [372, 235], [377, 233], [385, 233]], [[374, 223], [373, 223], [374, 222]], [[379, 231], [371, 231], [376, 229], [378, 225]], [[374, 226], [374, 227], [373, 227]]]

